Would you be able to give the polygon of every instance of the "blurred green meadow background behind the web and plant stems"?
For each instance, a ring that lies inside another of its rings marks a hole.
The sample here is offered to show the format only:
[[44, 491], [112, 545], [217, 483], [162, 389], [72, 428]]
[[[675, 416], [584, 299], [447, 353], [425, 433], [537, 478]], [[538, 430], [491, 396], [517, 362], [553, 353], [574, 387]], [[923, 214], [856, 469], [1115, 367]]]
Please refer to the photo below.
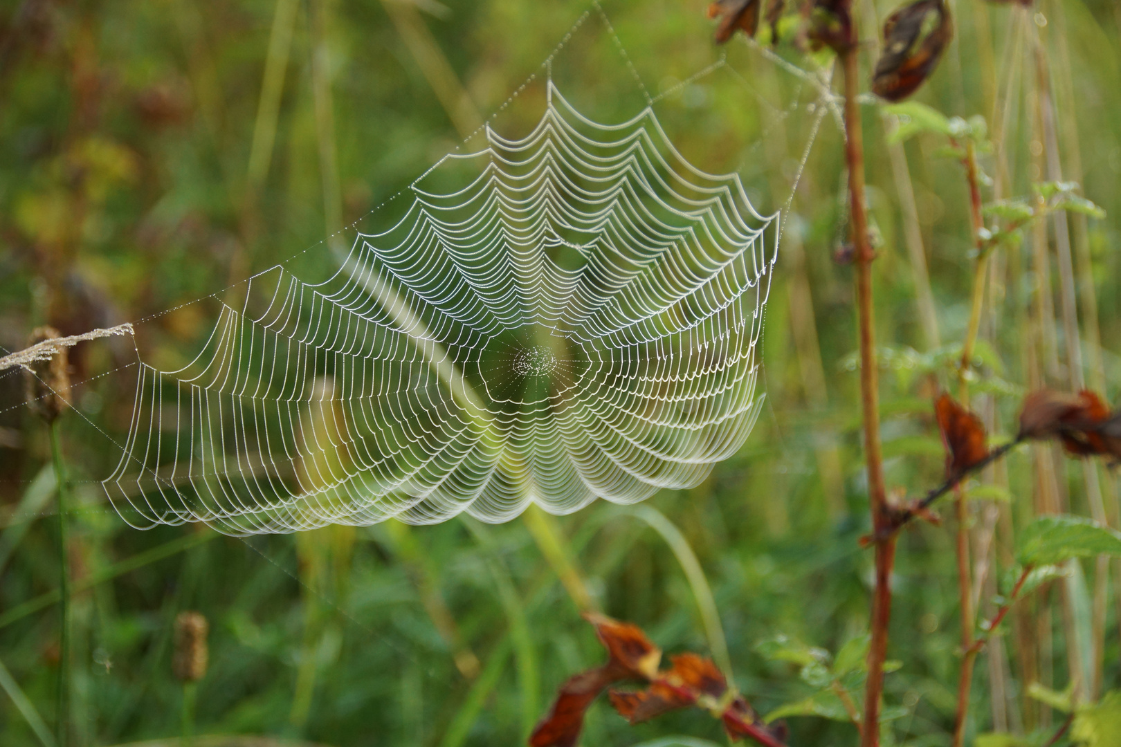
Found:
[[[645, 105], [640, 81], [683, 155], [708, 171], [738, 171], [765, 213], [785, 207], [800, 174], [768, 307], [763, 413], [740, 452], [702, 485], [647, 504], [700, 559], [748, 699], [761, 712], [797, 700], [809, 692], [797, 670], [765, 661], [756, 644], [785, 633], [835, 651], [868, 617], [851, 269], [833, 259], [846, 230], [842, 136], [822, 108], [828, 78], [818, 62], [780, 48], [791, 68], [739, 38], [716, 47], [705, 6], [605, 0], [603, 15], [582, 0], [6, 0], [0, 345], [24, 347], [41, 324], [77, 334], [142, 320], [136, 344], [143, 360], [183, 365], [213, 318], [201, 305], [180, 305], [222, 297], [294, 255], [289, 267], [300, 277], [330, 272], [325, 236], [376, 221], [377, 213], [365, 217], [371, 209], [536, 75], [532, 93], [543, 60], [586, 13], [554, 60], [558, 85], [582, 112], [605, 122], [632, 116]], [[871, 21], [892, 6], [860, 6], [865, 66], [876, 57]], [[918, 99], [990, 119], [1006, 102], [1004, 196], [1027, 194], [1038, 178], [1027, 39], [1039, 34], [1053, 63], [1065, 176], [1121, 214], [1118, 6], [1048, 0], [1025, 11], [957, 0], [953, 10], [956, 38]], [[539, 114], [527, 101], [515, 99], [495, 129], [524, 132]], [[969, 197], [960, 166], [938, 156], [942, 142], [918, 138], [892, 155], [887, 120], [874, 100], [865, 103], [869, 198], [882, 237], [878, 334], [892, 346], [882, 379], [888, 479], [914, 494], [942, 475], [929, 398], [947, 381], [945, 362], [967, 320]], [[983, 161], [995, 172], [992, 158]], [[910, 217], [904, 181], [914, 192]], [[1121, 332], [1115, 225], [1074, 226], [1110, 399]], [[929, 273], [925, 307], [916, 242]], [[975, 391], [998, 432], [1013, 428], [1027, 382], [1022, 318], [1038, 278], [1019, 268], [1029, 256], [1026, 244], [994, 271], [995, 312], [983, 327]], [[74, 582], [87, 587], [73, 605], [72, 744], [179, 734], [172, 628], [185, 609], [211, 624], [198, 734], [340, 747], [524, 744], [556, 687], [601, 661], [522, 522], [389, 523], [249, 540], [129, 527], [99, 480], [117, 465], [128, 431], [136, 360], [127, 337], [71, 355], [68, 555]], [[49, 725], [56, 607], [26, 613], [19, 605], [57, 587], [54, 483], [47, 430], [24, 396], [21, 375], [0, 374], [0, 662]], [[979, 525], [1013, 526], [1030, 515], [1030, 466], [1029, 452], [1010, 458], [1011, 499], [979, 502]], [[1087, 512], [1081, 474], [1067, 475], [1075, 513]], [[606, 613], [642, 625], [667, 651], [707, 651], [693, 590], [645, 521], [601, 503], [558, 525]], [[1008, 538], [997, 538], [978, 555], [997, 563], [990, 579], [1007, 569]], [[949, 744], [960, 661], [952, 545], [952, 531], [928, 525], [902, 540], [890, 651], [902, 666], [887, 694], [906, 712], [890, 726], [896, 744]], [[1121, 684], [1117, 609], [1111, 603], [1103, 689]], [[1065, 639], [1059, 631], [1044, 675], [1057, 689], [1067, 679]], [[1011, 653], [995, 663], [982, 656], [971, 735], [993, 729], [994, 719], [1023, 726], [1031, 706], [1018, 666]], [[1001, 679], [998, 690], [991, 678]], [[790, 729], [791, 745], [855, 743], [851, 725], [826, 719], [794, 718]], [[701, 712], [631, 728], [600, 703], [584, 744], [675, 734], [724, 739]], [[0, 744], [35, 743], [16, 701], [0, 698]]]

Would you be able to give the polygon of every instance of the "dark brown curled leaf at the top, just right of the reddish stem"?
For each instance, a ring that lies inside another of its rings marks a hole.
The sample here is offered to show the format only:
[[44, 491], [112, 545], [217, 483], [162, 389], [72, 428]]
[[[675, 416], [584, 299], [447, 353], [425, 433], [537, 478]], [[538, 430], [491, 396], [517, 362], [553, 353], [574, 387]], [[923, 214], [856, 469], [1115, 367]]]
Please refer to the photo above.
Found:
[[883, 22], [883, 56], [876, 64], [872, 92], [888, 101], [915, 93], [953, 37], [944, 0], [916, 0], [896, 10]]

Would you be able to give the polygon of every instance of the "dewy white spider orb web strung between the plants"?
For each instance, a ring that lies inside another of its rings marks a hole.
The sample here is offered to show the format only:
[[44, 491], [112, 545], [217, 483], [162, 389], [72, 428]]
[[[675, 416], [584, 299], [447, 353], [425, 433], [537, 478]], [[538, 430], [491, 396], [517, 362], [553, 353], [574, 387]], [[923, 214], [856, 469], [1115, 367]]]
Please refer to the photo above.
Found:
[[547, 87], [529, 134], [488, 127], [432, 172], [473, 177], [415, 183], [334, 277], [254, 276], [188, 366], [139, 366], [104, 482], [127, 521], [501, 522], [691, 487], [739, 449], [777, 214], [651, 108], [601, 124]]

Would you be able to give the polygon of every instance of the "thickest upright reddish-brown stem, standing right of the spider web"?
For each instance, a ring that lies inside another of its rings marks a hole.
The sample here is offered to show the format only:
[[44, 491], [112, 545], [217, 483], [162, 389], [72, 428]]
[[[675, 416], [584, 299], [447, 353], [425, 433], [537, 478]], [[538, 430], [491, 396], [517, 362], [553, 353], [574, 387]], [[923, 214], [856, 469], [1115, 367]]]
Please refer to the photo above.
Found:
[[841, 52], [844, 68], [845, 161], [849, 166], [849, 199], [852, 242], [855, 248], [856, 309], [860, 324], [860, 394], [864, 420], [864, 458], [868, 464], [869, 508], [876, 543], [876, 591], [872, 597], [871, 645], [868, 651], [868, 681], [864, 690], [862, 747], [880, 744], [880, 698], [883, 694], [883, 662], [888, 655], [888, 624], [891, 620], [891, 569], [896, 559], [895, 523], [888, 510], [883, 485], [883, 455], [880, 448], [880, 402], [876, 361], [876, 316], [872, 305], [873, 252], [868, 241], [868, 211], [864, 204], [864, 142], [861, 132], [859, 47]]

